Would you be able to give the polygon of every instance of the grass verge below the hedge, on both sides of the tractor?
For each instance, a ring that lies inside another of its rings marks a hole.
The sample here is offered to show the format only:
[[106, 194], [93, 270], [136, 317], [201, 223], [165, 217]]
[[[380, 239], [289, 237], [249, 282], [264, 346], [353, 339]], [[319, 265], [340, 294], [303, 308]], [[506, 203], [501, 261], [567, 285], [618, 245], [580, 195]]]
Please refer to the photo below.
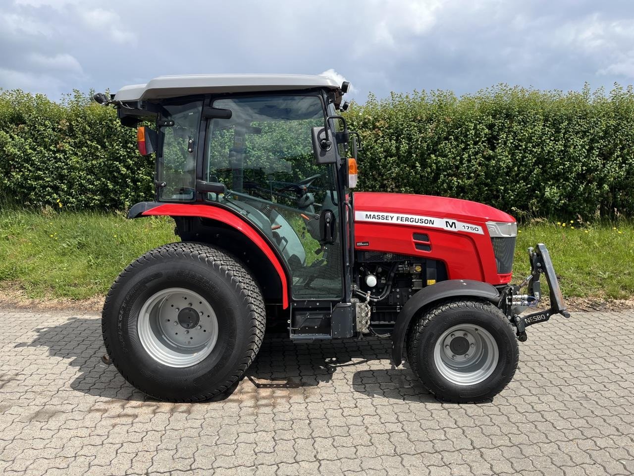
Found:
[[[634, 296], [634, 225], [536, 221], [520, 227], [515, 279], [529, 271], [526, 249], [547, 244], [564, 296]], [[103, 295], [131, 261], [177, 241], [169, 218], [126, 220], [120, 213], [0, 209], [0, 286], [29, 298]]]

